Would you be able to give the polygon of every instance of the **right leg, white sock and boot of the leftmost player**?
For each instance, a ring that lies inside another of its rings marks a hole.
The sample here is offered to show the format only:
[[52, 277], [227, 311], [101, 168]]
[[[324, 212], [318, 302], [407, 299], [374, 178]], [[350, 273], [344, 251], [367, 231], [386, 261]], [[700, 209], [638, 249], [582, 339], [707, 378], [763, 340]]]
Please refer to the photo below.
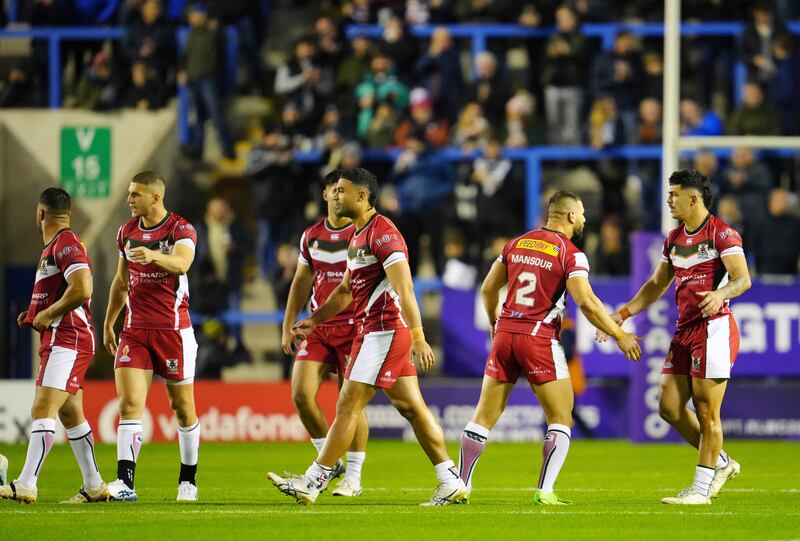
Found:
[[72, 452], [78, 461], [83, 477], [83, 486], [78, 494], [62, 503], [86, 503], [105, 501], [109, 497], [108, 489], [97, 467], [94, 452], [94, 436], [89, 422], [83, 413], [83, 389], [69, 395], [58, 410], [58, 418], [67, 431]]

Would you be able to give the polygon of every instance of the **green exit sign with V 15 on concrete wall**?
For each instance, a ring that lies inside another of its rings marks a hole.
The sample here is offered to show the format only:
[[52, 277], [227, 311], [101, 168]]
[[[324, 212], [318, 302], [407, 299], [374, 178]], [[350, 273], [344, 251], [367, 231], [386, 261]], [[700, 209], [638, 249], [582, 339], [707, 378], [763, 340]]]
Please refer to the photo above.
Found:
[[72, 197], [111, 193], [111, 128], [61, 128], [61, 187]]

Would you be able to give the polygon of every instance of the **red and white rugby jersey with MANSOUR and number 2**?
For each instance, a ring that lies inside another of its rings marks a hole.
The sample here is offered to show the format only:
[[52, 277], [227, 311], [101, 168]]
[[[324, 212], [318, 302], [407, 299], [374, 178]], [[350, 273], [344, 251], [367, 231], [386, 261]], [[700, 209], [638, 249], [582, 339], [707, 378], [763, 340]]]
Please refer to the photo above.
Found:
[[497, 258], [506, 266], [508, 292], [495, 330], [557, 339], [567, 279], [589, 277], [589, 261], [566, 235], [534, 229], [511, 240]]

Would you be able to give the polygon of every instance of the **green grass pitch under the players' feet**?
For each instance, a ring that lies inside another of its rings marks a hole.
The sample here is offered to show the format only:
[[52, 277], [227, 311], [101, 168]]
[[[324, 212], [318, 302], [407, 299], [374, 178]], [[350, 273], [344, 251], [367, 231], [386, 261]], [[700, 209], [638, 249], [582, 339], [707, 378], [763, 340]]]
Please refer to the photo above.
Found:
[[[142, 448], [137, 503], [64, 506], [80, 474], [67, 445], [50, 453], [39, 480], [39, 503], [0, 502], [0, 540], [126, 539], [797, 539], [800, 538], [800, 443], [729, 442], [742, 464], [711, 506], [659, 503], [691, 482], [696, 455], [686, 445], [633, 445], [576, 440], [557, 492], [574, 504], [533, 507], [541, 460], [535, 443], [492, 443], [478, 464], [471, 502], [420, 508], [436, 484], [415, 443], [371, 441], [364, 495], [323, 494], [301, 507], [268, 483], [268, 470], [301, 472], [310, 444], [203, 444], [201, 501], [175, 502], [177, 444]], [[451, 454], [458, 455], [455, 445]], [[98, 446], [106, 480], [115, 477], [116, 451]], [[19, 473], [22, 445], [0, 445]]]

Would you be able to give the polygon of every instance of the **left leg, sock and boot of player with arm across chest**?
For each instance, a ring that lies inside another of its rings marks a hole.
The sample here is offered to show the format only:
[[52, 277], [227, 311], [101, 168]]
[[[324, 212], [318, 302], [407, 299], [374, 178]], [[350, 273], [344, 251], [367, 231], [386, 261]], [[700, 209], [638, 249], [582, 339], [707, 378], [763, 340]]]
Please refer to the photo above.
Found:
[[117, 480], [109, 485], [115, 500], [136, 501], [134, 476], [136, 460], [142, 447], [142, 415], [153, 371], [141, 368], [117, 368], [114, 381], [119, 396], [117, 428]]

